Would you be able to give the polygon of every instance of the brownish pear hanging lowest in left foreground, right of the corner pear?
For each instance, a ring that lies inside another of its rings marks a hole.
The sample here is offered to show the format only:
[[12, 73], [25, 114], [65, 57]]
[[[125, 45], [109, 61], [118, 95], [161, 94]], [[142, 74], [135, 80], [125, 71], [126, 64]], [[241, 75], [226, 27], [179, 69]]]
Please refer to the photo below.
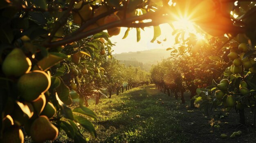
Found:
[[58, 128], [56, 128], [46, 116], [39, 116], [32, 123], [30, 134], [33, 141], [43, 143], [48, 140], [55, 140], [58, 136]]

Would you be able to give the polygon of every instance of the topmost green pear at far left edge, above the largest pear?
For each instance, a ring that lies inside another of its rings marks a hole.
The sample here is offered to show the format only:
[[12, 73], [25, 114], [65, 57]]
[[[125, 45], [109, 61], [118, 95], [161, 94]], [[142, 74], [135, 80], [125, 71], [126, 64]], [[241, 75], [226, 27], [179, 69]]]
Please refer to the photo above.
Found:
[[14, 48], [2, 63], [2, 71], [6, 76], [20, 77], [31, 69], [31, 61], [19, 48]]

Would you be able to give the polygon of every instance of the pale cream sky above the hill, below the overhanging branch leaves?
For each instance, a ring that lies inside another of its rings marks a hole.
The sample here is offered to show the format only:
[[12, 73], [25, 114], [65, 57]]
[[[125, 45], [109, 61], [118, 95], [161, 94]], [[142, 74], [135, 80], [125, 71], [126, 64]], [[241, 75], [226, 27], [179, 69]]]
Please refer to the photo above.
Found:
[[[174, 37], [171, 35], [172, 29], [168, 24], [161, 24], [161, 36], [157, 40], [161, 41], [161, 44], [157, 44], [157, 41], [151, 43], [153, 38], [154, 30], [153, 26], [145, 27], [145, 31], [141, 29], [141, 40], [137, 42], [136, 29], [131, 29], [126, 39], [122, 39], [126, 31], [126, 27], [121, 27], [121, 33], [117, 36], [110, 37], [111, 42], [117, 42], [116, 46], [113, 46], [113, 54], [115, 53], [126, 53], [135, 51], [144, 51], [154, 48], [168, 48], [174, 43]], [[167, 39], [165, 42], [164, 39]]]

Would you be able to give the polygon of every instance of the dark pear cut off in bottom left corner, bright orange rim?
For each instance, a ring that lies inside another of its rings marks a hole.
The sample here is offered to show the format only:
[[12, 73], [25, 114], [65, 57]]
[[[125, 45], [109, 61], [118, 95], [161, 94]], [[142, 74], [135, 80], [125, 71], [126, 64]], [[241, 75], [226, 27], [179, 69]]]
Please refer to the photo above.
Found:
[[24, 143], [24, 134], [19, 127], [13, 126], [3, 133], [1, 143]]

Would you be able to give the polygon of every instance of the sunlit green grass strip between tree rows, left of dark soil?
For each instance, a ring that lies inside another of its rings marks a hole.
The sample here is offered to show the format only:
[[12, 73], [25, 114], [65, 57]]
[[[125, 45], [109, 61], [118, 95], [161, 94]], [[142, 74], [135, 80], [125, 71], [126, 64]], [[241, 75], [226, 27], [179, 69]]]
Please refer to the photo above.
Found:
[[159, 93], [155, 86], [133, 88], [112, 99], [102, 98], [99, 105], [90, 100], [89, 108], [98, 116], [97, 121], [92, 121], [98, 137], [94, 139], [87, 132], [84, 135], [90, 143], [184, 142], [186, 136], [180, 127], [182, 114], [171, 110], [177, 108], [175, 102]]

